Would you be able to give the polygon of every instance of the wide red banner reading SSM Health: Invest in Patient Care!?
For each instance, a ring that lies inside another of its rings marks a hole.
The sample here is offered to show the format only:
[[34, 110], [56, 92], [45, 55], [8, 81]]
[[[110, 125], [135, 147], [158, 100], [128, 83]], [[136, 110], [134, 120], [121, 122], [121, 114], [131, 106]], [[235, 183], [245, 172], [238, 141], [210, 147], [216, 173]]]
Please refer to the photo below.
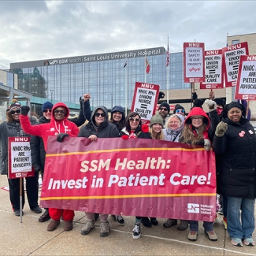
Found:
[[44, 207], [213, 221], [212, 150], [157, 139], [48, 139]]

